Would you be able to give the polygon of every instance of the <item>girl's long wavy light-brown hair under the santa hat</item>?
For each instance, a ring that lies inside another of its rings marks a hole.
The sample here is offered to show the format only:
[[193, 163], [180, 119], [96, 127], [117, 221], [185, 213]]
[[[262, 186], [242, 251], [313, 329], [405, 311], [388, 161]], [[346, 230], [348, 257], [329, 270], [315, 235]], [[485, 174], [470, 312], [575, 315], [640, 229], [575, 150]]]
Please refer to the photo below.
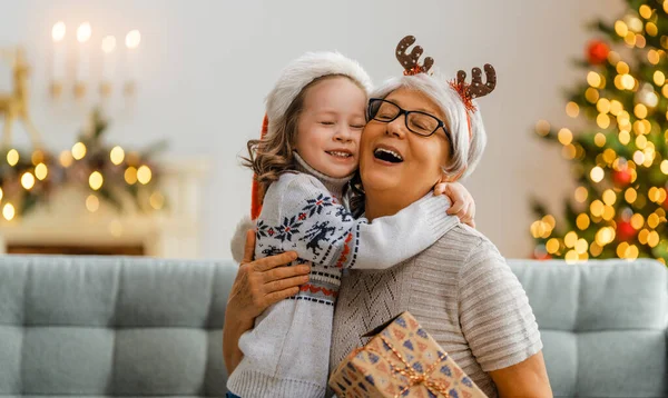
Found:
[[[269, 120], [269, 130], [262, 139], [249, 140], [246, 145], [248, 157], [243, 157], [243, 166], [249, 168], [255, 173], [255, 178], [259, 182], [262, 192], [266, 192], [272, 182], [285, 172], [294, 171], [294, 145], [298, 133], [299, 117], [304, 111], [304, 100], [308, 89], [313, 88], [318, 82], [332, 78], [346, 78], [366, 96], [365, 88], [355, 79], [346, 74], [327, 74], [314, 79], [306, 84], [302, 91], [289, 103], [285, 115], [279, 120]], [[262, 195], [264, 196], [264, 193]]]

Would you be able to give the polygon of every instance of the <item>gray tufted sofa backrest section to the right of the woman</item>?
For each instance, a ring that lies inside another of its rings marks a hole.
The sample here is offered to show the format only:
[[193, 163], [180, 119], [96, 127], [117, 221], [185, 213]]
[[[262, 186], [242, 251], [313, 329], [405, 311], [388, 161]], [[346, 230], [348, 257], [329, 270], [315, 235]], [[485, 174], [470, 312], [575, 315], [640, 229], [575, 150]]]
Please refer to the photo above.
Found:
[[509, 260], [556, 397], [666, 397], [668, 271], [655, 260]]

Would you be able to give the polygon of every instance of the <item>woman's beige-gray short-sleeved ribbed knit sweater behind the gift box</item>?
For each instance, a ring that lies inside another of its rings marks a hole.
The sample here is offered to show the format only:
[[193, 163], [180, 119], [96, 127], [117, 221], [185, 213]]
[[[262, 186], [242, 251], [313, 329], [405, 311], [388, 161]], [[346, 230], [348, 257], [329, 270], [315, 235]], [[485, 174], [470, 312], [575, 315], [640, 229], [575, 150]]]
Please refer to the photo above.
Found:
[[517, 277], [489, 239], [456, 220], [435, 245], [396, 267], [344, 275], [331, 370], [365, 344], [360, 336], [405, 310], [490, 398], [498, 394], [489, 371], [542, 349]]

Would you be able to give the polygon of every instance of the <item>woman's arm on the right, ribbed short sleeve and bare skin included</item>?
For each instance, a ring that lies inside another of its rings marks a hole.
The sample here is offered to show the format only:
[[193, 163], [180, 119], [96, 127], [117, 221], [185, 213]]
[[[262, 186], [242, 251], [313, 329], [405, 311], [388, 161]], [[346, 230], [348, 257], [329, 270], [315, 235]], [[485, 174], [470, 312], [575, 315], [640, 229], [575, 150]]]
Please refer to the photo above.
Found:
[[462, 332], [500, 397], [552, 397], [527, 293], [487, 239], [470, 248], [458, 291]]

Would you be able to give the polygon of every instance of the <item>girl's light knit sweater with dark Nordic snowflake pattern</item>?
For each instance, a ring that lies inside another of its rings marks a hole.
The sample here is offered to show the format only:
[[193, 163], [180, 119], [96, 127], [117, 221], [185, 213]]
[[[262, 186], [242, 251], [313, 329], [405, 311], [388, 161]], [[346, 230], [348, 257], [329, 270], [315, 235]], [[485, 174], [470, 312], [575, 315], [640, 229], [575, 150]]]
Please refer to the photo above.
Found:
[[387, 269], [433, 245], [452, 222], [449, 199], [431, 193], [392, 217], [355, 220], [341, 205], [347, 179], [295, 158], [301, 172], [281, 176], [264, 198], [255, 257], [295, 250], [297, 263], [313, 263], [311, 279], [240, 337], [244, 359], [227, 387], [242, 398], [323, 397], [342, 269]]

